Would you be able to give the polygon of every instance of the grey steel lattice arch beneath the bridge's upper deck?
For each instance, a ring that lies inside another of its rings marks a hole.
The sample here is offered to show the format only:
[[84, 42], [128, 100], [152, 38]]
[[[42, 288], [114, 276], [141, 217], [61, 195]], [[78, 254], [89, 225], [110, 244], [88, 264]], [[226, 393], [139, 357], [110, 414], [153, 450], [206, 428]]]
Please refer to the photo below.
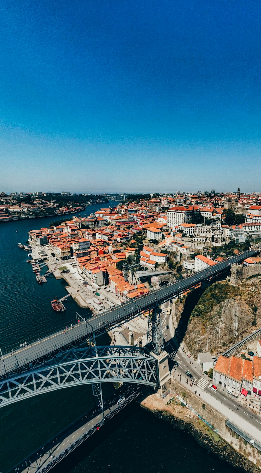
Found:
[[[97, 350], [97, 351], [96, 351]], [[157, 360], [137, 347], [71, 349], [55, 362], [0, 382], [0, 407], [56, 389], [84, 384], [128, 382], [158, 386]], [[59, 361], [60, 360], [60, 361]], [[101, 392], [101, 386], [98, 390]], [[102, 400], [100, 401], [102, 403]]]

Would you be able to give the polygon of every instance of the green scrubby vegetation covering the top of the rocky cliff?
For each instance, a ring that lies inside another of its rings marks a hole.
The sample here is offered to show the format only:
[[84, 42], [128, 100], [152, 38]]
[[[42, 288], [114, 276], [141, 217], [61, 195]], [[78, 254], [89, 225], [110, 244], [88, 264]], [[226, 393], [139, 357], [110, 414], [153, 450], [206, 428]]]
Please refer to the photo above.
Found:
[[223, 284], [216, 282], [200, 296], [199, 302], [191, 312], [191, 317], [200, 317], [202, 320], [205, 320], [215, 306], [226, 299], [235, 298], [235, 296], [239, 295], [240, 290], [237, 287], [231, 286], [227, 282]]

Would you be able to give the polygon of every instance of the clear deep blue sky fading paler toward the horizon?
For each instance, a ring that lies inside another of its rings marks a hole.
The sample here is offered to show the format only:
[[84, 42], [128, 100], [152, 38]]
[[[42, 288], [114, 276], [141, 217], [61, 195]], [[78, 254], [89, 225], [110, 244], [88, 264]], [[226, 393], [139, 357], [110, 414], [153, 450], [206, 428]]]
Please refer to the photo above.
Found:
[[259, 1], [0, 9], [0, 190], [261, 190]]

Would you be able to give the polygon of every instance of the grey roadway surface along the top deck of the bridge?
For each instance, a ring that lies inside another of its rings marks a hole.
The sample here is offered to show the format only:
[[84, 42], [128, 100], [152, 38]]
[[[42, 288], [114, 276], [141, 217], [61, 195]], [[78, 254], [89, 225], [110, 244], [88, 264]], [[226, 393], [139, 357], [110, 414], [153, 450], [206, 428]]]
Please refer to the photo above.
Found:
[[66, 333], [58, 332], [46, 337], [40, 342], [28, 344], [22, 350], [16, 350], [15, 353], [8, 353], [0, 359], [0, 376], [5, 376], [6, 373], [17, 369], [21, 366], [28, 365], [35, 359], [39, 359], [48, 353], [57, 350], [59, 347], [65, 346], [72, 341], [78, 340], [87, 334], [97, 332], [100, 329], [110, 328], [115, 323], [120, 323], [123, 320], [134, 317], [142, 310], [147, 310], [155, 303], [161, 304], [170, 300], [175, 295], [197, 286], [200, 282], [208, 280], [209, 276], [213, 277], [220, 272], [230, 269], [231, 264], [240, 263], [246, 257], [253, 256], [259, 251], [256, 247], [254, 250], [247, 251], [238, 256], [230, 258], [228, 261], [218, 263], [210, 269], [198, 272], [186, 279], [178, 281], [162, 289], [157, 289], [150, 292], [147, 296], [143, 296], [135, 301], [130, 301], [122, 306], [116, 307], [110, 311], [104, 312], [95, 318], [88, 319], [86, 323], [77, 324]]

